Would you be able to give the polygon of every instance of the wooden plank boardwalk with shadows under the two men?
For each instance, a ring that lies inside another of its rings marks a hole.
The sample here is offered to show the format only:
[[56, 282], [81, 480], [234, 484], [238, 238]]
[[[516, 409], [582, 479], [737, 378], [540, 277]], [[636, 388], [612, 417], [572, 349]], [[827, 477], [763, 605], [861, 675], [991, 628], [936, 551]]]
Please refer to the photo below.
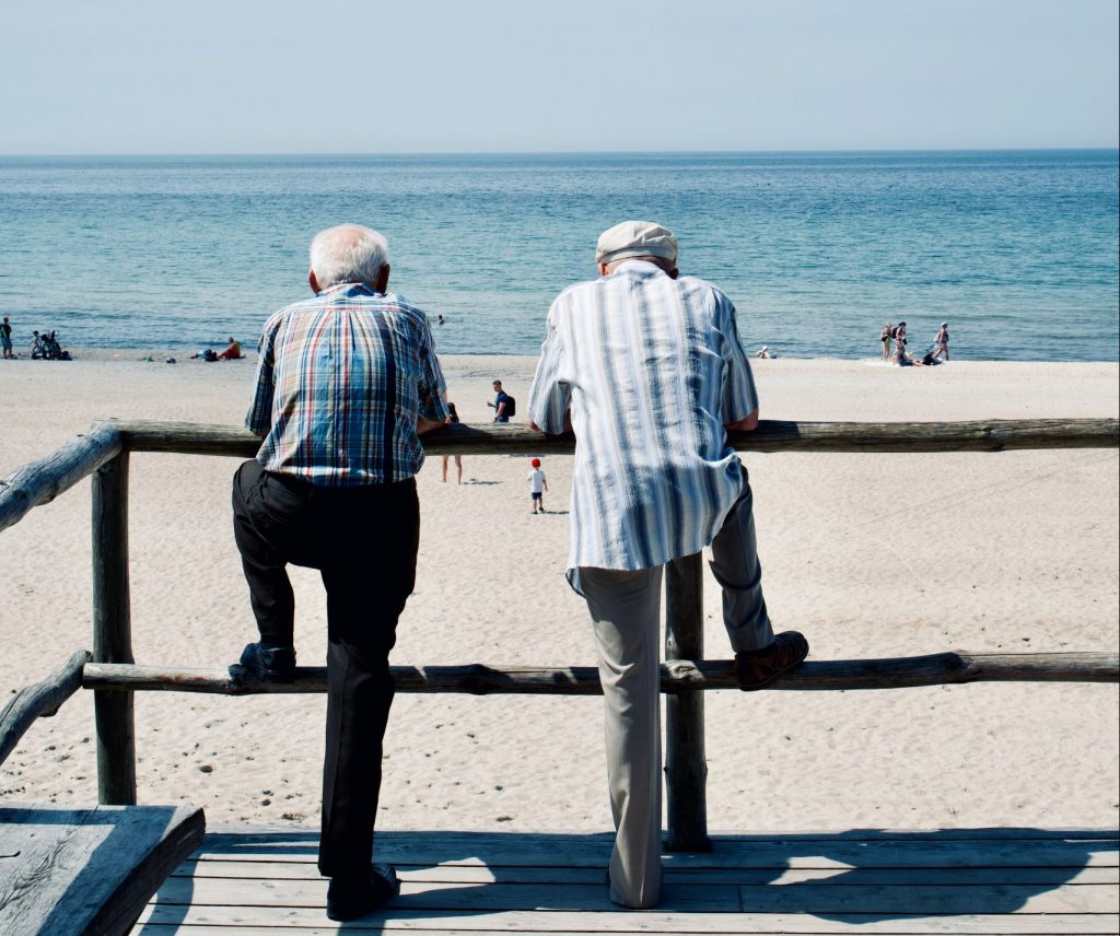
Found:
[[666, 854], [662, 905], [607, 899], [607, 835], [379, 833], [401, 895], [342, 926], [324, 915], [317, 835], [218, 827], [133, 936], [338, 930], [437, 934], [1116, 934], [1117, 831], [955, 830], [713, 837]]

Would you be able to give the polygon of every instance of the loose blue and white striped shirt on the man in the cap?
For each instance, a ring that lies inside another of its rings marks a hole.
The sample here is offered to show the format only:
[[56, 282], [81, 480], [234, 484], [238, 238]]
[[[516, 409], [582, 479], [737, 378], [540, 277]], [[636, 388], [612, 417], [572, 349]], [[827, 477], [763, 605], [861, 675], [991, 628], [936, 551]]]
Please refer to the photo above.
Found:
[[529, 415], [576, 432], [568, 577], [699, 552], [743, 493], [726, 423], [758, 408], [735, 307], [711, 283], [645, 261], [552, 303]]

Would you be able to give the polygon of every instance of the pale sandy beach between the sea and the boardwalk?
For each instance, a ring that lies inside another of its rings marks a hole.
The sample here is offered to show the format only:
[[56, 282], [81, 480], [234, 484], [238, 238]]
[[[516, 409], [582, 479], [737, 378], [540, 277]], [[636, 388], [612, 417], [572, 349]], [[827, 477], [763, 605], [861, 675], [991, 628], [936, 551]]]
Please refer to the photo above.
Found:
[[[251, 362], [179, 352], [0, 362], [0, 475], [99, 418], [239, 423]], [[448, 357], [450, 397], [486, 422], [501, 377], [524, 419], [533, 359]], [[756, 363], [764, 419], [1116, 416], [1114, 364]], [[1116, 650], [1118, 452], [745, 455], [767, 603], [812, 658]], [[594, 665], [563, 578], [570, 457], [548, 457], [544, 516], [528, 458], [467, 457], [464, 484], [419, 477], [416, 595], [396, 664]], [[230, 521], [234, 459], [131, 460], [138, 662], [215, 666], [255, 639]], [[377, 535], [379, 531], [371, 531]], [[321, 665], [316, 573], [293, 570], [300, 663]], [[707, 656], [729, 655], [706, 582]], [[88, 483], [0, 534], [0, 700], [90, 647]], [[1009, 683], [883, 692], [712, 692], [712, 831], [1114, 826], [1118, 687]], [[141, 803], [211, 823], [315, 825], [323, 696], [138, 693]], [[610, 829], [595, 698], [398, 696], [379, 827]], [[4, 802], [96, 801], [92, 693], [40, 720], [0, 768]]]

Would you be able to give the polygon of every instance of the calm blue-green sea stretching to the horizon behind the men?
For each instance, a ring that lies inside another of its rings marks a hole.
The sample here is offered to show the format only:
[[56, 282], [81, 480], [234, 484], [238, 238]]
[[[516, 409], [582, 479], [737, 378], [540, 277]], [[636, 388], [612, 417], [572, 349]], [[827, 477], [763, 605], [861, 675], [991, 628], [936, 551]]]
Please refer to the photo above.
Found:
[[748, 350], [872, 358], [905, 320], [921, 352], [948, 321], [954, 359], [1114, 362], [1118, 172], [1114, 149], [0, 157], [0, 313], [17, 349], [251, 348], [353, 221], [440, 352], [532, 355], [598, 234], [643, 218]]

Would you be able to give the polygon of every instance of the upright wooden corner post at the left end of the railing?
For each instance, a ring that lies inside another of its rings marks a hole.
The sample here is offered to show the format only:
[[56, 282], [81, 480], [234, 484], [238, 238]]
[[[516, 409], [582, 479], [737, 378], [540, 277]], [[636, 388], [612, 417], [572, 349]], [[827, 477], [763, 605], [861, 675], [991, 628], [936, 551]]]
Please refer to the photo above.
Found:
[[[93, 658], [133, 663], [129, 601], [129, 453], [122, 451], [93, 474]], [[97, 802], [137, 802], [136, 723], [132, 693], [99, 690]]]

